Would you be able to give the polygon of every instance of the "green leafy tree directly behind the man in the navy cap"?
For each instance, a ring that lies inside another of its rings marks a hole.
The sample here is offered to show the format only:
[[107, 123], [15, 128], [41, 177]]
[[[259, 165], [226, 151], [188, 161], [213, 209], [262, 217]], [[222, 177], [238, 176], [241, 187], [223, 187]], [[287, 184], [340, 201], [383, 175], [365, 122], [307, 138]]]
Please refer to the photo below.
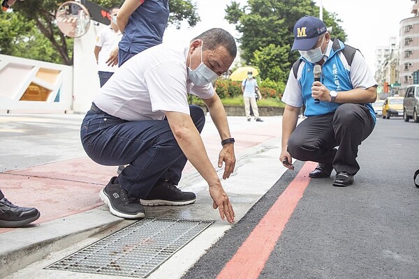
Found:
[[[289, 68], [300, 54], [291, 52], [293, 27], [304, 15], [318, 16], [311, 0], [249, 0], [246, 6], [233, 1], [226, 8], [226, 20], [242, 33], [241, 56], [260, 69], [260, 76], [285, 80]], [[332, 27], [332, 38], [346, 40], [337, 15], [323, 9], [323, 22]]]

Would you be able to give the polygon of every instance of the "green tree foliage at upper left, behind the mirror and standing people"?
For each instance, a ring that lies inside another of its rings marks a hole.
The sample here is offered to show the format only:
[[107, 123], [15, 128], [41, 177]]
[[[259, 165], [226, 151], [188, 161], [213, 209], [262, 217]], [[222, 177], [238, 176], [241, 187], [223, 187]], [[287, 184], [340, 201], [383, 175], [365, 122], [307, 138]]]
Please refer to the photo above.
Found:
[[[104, 8], [119, 7], [121, 0], [94, 0]], [[56, 0], [17, 1], [13, 13], [0, 15], [0, 52], [29, 59], [73, 64], [73, 38], [57, 27], [55, 14], [63, 2]], [[191, 0], [170, 0], [170, 24], [187, 22], [191, 27], [200, 20]]]

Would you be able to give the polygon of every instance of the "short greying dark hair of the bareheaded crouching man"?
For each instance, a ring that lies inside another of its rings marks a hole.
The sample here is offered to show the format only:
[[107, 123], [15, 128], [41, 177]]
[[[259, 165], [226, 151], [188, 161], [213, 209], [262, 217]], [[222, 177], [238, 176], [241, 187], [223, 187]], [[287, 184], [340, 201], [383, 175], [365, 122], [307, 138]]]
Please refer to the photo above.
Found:
[[193, 40], [203, 40], [205, 43], [203, 44], [203, 51], [204, 50], [215, 50], [216, 47], [223, 46], [226, 47], [228, 54], [235, 58], [237, 55], [237, 45], [233, 36], [228, 33], [226, 30], [221, 28], [212, 28], [204, 33], [196, 36]]

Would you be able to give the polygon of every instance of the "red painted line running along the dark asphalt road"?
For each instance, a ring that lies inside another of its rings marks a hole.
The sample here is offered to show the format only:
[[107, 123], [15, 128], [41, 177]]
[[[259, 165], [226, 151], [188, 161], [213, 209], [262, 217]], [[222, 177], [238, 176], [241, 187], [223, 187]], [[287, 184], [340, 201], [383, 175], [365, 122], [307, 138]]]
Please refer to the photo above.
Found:
[[302, 166], [295, 179], [224, 266], [217, 279], [256, 279], [259, 277], [286, 223], [309, 185], [309, 172], [316, 166], [317, 163], [313, 162], [307, 162]]

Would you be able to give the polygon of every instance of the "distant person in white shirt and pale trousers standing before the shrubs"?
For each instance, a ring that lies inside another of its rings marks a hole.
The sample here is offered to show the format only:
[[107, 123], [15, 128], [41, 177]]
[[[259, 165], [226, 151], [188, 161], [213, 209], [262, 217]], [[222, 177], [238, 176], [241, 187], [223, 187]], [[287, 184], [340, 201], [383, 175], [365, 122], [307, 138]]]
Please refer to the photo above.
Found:
[[244, 98], [244, 112], [246, 112], [247, 121], [250, 121], [250, 107], [255, 116], [255, 120], [258, 122], [263, 122], [259, 117], [258, 104], [256, 103], [256, 94], [258, 98], [261, 99], [262, 95], [260, 94], [258, 88], [258, 82], [253, 78], [253, 72], [247, 72], [247, 78], [242, 82], [242, 92]]

